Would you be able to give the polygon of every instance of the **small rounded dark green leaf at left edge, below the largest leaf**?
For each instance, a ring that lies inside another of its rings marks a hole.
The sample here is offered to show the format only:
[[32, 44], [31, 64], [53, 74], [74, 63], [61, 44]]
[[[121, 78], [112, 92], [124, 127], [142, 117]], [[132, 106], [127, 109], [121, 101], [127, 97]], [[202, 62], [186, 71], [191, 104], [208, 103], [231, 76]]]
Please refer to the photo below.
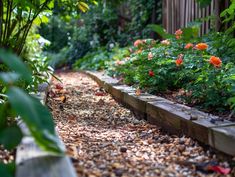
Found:
[[7, 127], [0, 131], [0, 144], [6, 149], [14, 149], [20, 142], [23, 134], [19, 127]]

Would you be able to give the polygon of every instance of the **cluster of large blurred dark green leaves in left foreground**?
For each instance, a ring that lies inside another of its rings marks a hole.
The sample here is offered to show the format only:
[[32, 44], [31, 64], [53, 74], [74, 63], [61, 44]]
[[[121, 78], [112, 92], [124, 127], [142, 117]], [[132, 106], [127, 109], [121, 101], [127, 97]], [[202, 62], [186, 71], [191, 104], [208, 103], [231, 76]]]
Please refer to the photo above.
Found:
[[56, 154], [63, 153], [50, 112], [37, 98], [19, 87], [21, 82], [32, 82], [30, 69], [16, 55], [2, 49], [0, 61], [8, 68], [7, 72], [0, 73], [4, 87], [0, 95], [0, 144], [12, 150], [21, 142], [23, 134], [15, 120], [15, 117], [20, 116], [42, 149]]

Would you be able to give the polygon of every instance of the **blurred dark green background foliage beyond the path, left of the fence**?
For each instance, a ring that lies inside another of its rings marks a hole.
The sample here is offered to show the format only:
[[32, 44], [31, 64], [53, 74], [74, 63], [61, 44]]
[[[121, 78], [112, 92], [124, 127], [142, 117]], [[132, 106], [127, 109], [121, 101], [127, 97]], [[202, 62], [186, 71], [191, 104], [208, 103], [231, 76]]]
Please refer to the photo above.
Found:
[[[148, 0], [147, 6], [141, 2], [102, 0], [74, 18], [64, 13], [62, 6], [55, 7], [54, 16], [40, 29], [40, 34], [52, 43], [45, 50], [52, 66], [70, 65], [98, 47], [115, 43], [122, 47], [136, 38], [149, 37], [151, 30], [146, 26], [153, 14], [156, 19], [152, 22], [160, 22], [161, 1]], [[68, 50], [69, 54], [65, 54]]]

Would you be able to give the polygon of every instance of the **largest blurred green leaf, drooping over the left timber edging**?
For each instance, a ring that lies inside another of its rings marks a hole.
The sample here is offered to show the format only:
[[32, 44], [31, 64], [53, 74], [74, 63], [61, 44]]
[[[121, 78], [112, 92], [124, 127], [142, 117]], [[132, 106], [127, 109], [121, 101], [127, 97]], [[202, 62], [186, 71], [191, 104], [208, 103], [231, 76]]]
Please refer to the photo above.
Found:
[[44, 150], [63, 153], [64, 149], [55, 135], [54, 123], [48, 109], [37, 98], [17, 87], [11, 87], [7, 95], [12, 108], [26, 123], [36, 143]]

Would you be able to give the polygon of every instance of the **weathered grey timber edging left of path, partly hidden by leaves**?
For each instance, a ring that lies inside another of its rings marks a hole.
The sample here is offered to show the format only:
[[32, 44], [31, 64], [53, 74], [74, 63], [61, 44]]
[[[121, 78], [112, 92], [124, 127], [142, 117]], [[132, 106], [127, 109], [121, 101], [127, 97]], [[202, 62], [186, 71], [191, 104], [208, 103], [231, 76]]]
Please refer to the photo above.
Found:
[[[45, 105], [48, 88], [36, 96]], [[30, 135], [28, 128], [18, 122], [24, 137], [16, 151], [16, 177], [76, 177], [75, 169], [67, 156], [58, 156], [41, 150]], [[65, 148], [59, 139], [61, 146]]]

